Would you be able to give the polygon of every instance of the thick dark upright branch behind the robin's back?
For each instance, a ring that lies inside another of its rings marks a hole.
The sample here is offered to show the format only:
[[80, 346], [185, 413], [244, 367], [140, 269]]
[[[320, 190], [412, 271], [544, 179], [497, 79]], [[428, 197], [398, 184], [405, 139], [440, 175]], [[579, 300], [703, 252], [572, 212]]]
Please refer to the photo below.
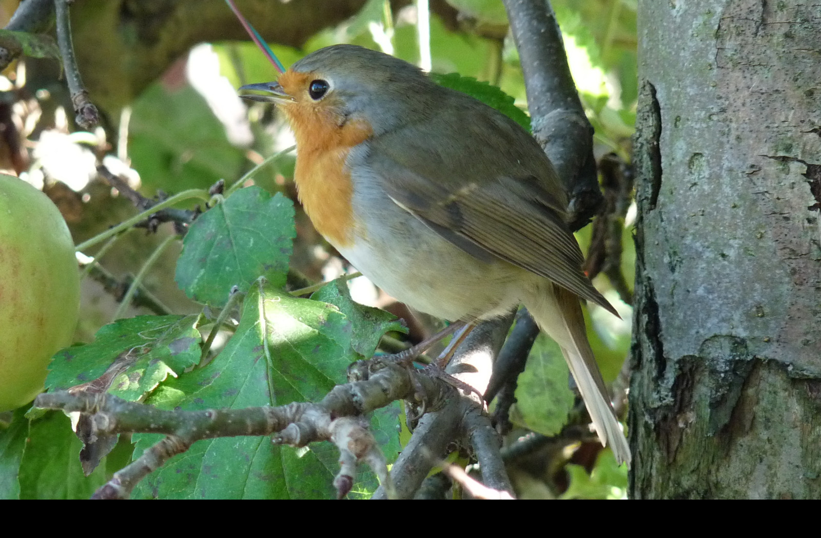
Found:
[[533, 134], [570, 194], [571, 229], [585, 226], [602, 195], [593, 127], [567, 64], [562, 33], [548, 0], [504, 0], [519, 50]]

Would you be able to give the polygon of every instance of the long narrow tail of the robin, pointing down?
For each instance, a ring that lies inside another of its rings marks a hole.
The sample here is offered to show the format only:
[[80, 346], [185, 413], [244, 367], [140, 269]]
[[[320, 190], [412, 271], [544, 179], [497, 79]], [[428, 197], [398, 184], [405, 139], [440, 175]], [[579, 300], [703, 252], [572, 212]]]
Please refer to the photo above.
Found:
[[562, 349], [602, 444], [607, 446], [610, 443], [617, 462], [627, 463], [630, 467], [630, 447], [627, 446], [593, 350], [587, 341], [585, 317], [581, 312], [579, 299], [557, 285], [550, 285], [550, 288], [548, 293], [543, 291], [526, 298], [525, 307], [539, 328], [556, 340]]

